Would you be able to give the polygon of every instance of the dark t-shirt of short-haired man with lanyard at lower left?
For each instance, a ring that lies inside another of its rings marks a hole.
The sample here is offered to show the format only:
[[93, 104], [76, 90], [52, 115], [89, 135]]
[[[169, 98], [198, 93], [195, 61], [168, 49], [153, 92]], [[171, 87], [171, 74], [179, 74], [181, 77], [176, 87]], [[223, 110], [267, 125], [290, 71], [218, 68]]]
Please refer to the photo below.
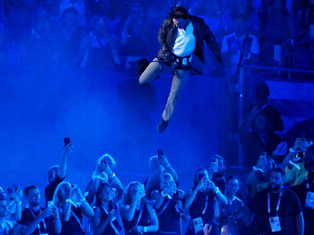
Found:
[[[37, 217], [45, 209], [46, 208], [40, 207], [38, 211], [33, 211], [35, 215], [34, 216], [29, 208], [25, 208], [24, 210], [22, 210], [22, 217], [21, 217], [21, 220], [18, 221], [18, 223], [27, 226], [30, 222], [32, 222], [35, 219], [35, 217]], [[53, 221], [54, 221], [53, 216], [45, 218], [45, 223], [46, 223], [48, 234], [54, 234]], [[41, 221], [39, 225], [41, 228], [41, 233], [44, 233], [45, 232], [44, 222]], [[30, 235], [39, 235], [38, 226], [35, 228], [34, 232], [32, 232]]]

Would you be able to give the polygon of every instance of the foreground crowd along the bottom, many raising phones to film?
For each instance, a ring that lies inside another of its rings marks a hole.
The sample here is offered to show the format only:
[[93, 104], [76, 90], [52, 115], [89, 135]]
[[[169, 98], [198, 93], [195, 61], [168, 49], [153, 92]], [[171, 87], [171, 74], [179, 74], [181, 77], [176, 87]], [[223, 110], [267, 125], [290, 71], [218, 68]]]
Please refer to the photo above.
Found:
[[[263, 110], [257, 116], [268, 120]], [[280, 122], [271, 130], [278, 127]], [[148, 159], [149, 179], [128, 179], [128, 185], [114, 173], [116, 160], [102, 155], [84, 192], [79, 182], [65, 179], [74, 151], [68, 143], [60, 164], [48, 170], [46, 207], [39, 206], [41, 192], [31, 182], [23, 190], [17, 184], [9, 186], [8, 193], [0, 187], [0, 234], [312, 235], [312, 141], [303, 134], [289, 150], [283, 142], [269, 153], [265, 145], [257, 145], [246, 155], [250, 170], [244, 167], [238, 176], [230, 174], [226, 159], [208, 156], [208, 164], [191, 175], [194, 185], [186, 192], [180, 189], [172, 158], [163, 151]], [[242, 182], [247, 190], [239, 190]], [[22, 200], [27, 203], [24, 209]], [[181, 220], [188, 223], [186, 231]]]

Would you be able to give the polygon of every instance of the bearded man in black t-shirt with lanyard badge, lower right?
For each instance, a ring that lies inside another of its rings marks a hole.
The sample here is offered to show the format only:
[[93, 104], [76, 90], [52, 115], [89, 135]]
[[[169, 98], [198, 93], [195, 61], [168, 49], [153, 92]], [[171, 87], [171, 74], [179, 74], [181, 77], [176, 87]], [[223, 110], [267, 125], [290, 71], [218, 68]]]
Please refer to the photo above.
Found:
[[254, 213], [256, 226], [252, 234], [275, 231], [282, 235], [303, 234], [302, 206], [296, 194], [283, 187], [284, 177], [284, 170], [274, 168], [269, 176], [269, 188], [256, 193], [250, 201], [249, 209]]

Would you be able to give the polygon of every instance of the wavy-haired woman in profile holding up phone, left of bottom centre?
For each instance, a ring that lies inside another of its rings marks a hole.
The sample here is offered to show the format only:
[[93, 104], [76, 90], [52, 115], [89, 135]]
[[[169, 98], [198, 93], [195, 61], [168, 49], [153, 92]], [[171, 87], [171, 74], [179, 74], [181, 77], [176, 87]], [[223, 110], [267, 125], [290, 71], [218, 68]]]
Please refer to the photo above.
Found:
[[149, 234], [158, 230], [154, 206], [144, 197], [143, 187], [137, 181], [131, 182], [123, 194], [121, 217], [127, 235]]

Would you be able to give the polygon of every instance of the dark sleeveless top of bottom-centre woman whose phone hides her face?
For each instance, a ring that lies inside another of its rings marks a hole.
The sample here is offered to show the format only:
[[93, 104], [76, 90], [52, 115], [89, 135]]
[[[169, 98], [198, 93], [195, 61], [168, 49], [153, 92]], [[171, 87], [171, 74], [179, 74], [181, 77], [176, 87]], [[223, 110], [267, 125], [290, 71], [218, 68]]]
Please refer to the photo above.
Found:
[[158, 231], [180, 232], [180, 213], [176, 211], [176, 201], [179, 200], [181, 199], [177, 191], [172, 195], [172, 199], [165, 196], [161, 206], [156, 209], [159, 224]]

